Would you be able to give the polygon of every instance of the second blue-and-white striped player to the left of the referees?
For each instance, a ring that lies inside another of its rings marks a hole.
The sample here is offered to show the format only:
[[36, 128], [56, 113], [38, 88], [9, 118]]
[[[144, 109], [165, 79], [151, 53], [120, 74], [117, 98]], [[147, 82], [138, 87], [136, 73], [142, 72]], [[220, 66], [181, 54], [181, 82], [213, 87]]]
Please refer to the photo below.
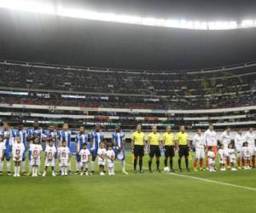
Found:
[[100, 124], [96, 124], [95, 131], [90, 135], [90, 175], [94, 174], [95, 160], [98, 155], [99, 145], [102, 141], [104, 141], [104, 135], [102, 133], [101, 126]]

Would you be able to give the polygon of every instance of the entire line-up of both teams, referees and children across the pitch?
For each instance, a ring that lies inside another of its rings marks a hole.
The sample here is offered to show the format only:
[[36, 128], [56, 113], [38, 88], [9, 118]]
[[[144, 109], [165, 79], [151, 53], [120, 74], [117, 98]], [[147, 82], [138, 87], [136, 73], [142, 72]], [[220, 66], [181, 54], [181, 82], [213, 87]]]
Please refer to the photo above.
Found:
[[[10, 172], [10, 159], [13, 157], [15, 161], [15, 176], [19, 175], [19, 168], [21, 164], [22, 175], [25, 175], [26, 165], [26, 150], [28, 150], [28, 157], [30, 160], [29, 170], [32, 176], [37, 176], [38, 167], [40, 166], [40, 153], [42, 152], [42, 141], [46, 141], [45, 150], [45, 171], [49, 166], [52, 167], [52, 174], [55, 176], [55, 159], [59, 158], [61, 174], [67, 175], [67, 170], [71, 172], [70, 164], [70, 144], [71, 136], [74, 133], [68, 130], [68, 124], [63, 124], [62, 130], [55, 130], [54, 125], [49, 125], [48, 130], [42, 130], [39, 128], [38, 122], [33, 124], [33, 128], [25, 130], [22, 125], [19, 125], [18, 130], [9, 130], [9, 125], [3, 123], [3, 130], [0, 133], [0, 174], [3, 171], [3, 159], [6, 158], [8, 175]], [[90, 139], [90, 142], [89, 142]], [[30, 146], [27, 146], [26, 141], [32, 141]], [[82, 174], [88, 174], [88, 163], [90, 161], [90, 173], [94, 174], [95, 161], [98, 157], [98, 164], [100, 166], [101, 175], [104, 175], [105, 158], [108, 159], [108, 174], [114, 174], [114, 160], [117, 158], [122, 163], [122, 172], [125, 171], [125, 134], [120, 130], [119, 126], [116, 126], [113, 132], [113, 144], [108, 146], [108, 151], [104, 147], [104, 135], [100, 125], [96, 125], [96, 130], [91, 134], [86, 134], [84, 127], [79, 128], [79, 133], [76, 135], [76, 174], [79, 174], [79, 170], [82, 170]], [[228, 127], [220, 136], [221, 146], [217, 147], [217, 134], [213, 130], [213, 125], [209, 125], [209, 129], [201, 134], [201, 130], [197, 130], [195, 133], [192, 145], [195, 147], [195, 160], [194, 170], [197, 171], [196, 166], [199, 162], [200, 170], [203, 170], [203, 159], [205, 153], [207, 153], [207, 169], [215, 170], [215, 158], [217, 153], [220, 159], [221, 170], [227, 168], [235, 169], [236, 156], [237, 165], [240, 169], [241, 166], [244, 169], [255, 166], [255, 135], [253, 135], [253, 128], [249, 128], [245, 135], [242, 135], [241, 130], [238, 130], [235, 137], [235, 147], [231, 144], [231, 130]], [[22, 148], [24, 145], [24, 148]], [[20, 146], [20, 147], [19, 147]], [[64, 147], [63, 147], [64, 146]], [[88, 146], [88, 148], [87, 148]], [[2, 147], [2, 148], [1, 148]], [[3, 152], [3, 147], [4, 152]], [[29, 148], [28, 148], [29, 147]], [[143, 156], [145, 147], [149, 149], [148, 170], [152, 172], [152, 160], [156, 157], [156, 169], [160, 172], [160, 155], [161, 148], [165, 151], [165, 170], [169, 170], [167, 166], [168, 158], [170, 162], [170, 169], [173, 170], [173, 157], [175, 151], [178, 153], [178, 168], [182, 171], [181, 160], [184, 156], [186, 170], [189, 171], [189, 135], [185, 133], [185, 128], [182, 125], [180, 132], [177, 135], [172, 134], [171, 127], [166, 128], [166, 133], [162, 136], [157, 132], [156, 126], [152, 127], [152, 132], [148, 134], [146, 138], [142, 132], [141, 125], [137, 125], [137, 130], [131, 135], [131, 149], [134, 153], [134, 170], [137, 170], [137, 159], [139, 160], [140, 172], [143, 172]], [[19, 150], [20, 148], [20, 150]], [[22, 150], [25, 150], [22, 152]], [[2, 150], [2, 151], [1, 151]], [[86, 150], [86, 152], [84, 151]], [[89, 152], [90, 150], [90, 152]], [[84, 154], [83, 154], [84, 152]], [[22, 153], [22, 154], [20, 154]], [[107, 155], [112, 153], [112, 155]], [[114, 153], [114, 154], [113, 154]], [[19, 157], [19, 158], [18, 158]], [[85, 164], [86, 163], [86, 164]]]

